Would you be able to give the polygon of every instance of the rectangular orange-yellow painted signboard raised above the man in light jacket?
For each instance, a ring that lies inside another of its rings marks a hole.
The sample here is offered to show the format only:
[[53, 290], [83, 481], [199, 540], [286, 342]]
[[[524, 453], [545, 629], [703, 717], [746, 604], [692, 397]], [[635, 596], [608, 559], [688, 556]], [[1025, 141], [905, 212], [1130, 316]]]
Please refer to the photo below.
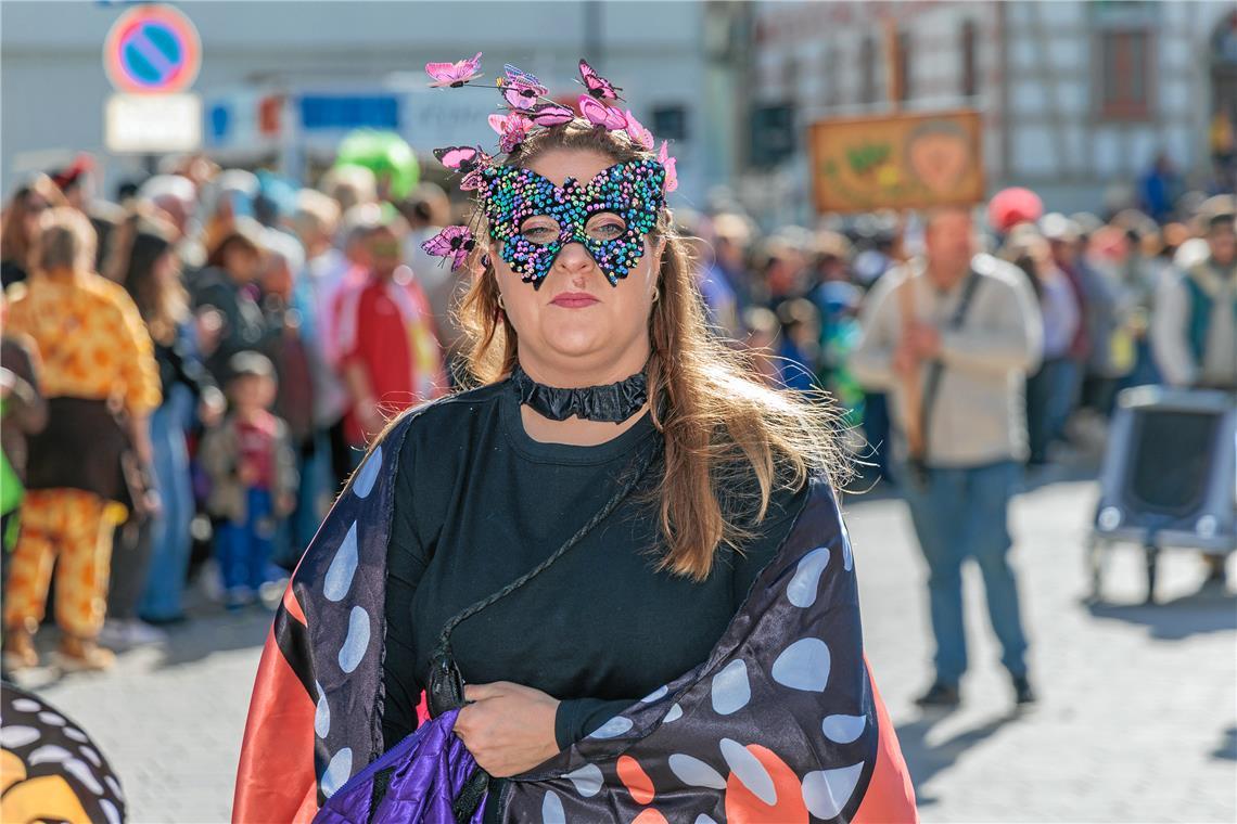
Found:
[[821, 120], [811, 126], [818, 211], [969, 206], [983, 200], [977, 111]]

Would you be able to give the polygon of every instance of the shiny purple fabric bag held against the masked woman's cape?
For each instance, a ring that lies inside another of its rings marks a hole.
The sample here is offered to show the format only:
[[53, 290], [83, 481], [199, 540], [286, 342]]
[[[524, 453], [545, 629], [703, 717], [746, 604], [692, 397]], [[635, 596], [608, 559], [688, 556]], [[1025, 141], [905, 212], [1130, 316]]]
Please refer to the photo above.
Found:
[[[369, 822], [454, 822], [452, 802], [476, 770], [464, 742], [452, 733], [458, 709], [443, 713], [400, 741], [339, 788], [318, 810], [314, 824]], [[374, 804], [374, 777], [393, 767], [386, 794]], [[470, 824], [480, 824], [485, 799]]]

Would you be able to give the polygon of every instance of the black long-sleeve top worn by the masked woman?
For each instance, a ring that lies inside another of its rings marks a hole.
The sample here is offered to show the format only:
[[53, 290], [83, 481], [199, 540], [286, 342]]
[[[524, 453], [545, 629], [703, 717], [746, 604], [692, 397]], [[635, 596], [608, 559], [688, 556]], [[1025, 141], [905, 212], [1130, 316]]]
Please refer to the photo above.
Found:
[[[646, 415], [599, 446], [534, 441], [508, 382], [422, 413], [400, 456], [387, 560], [388, 749], [416, 729], [447, 620], [554, 552], [657, 437]], [[560, 699], [555, 738], [565, 749], [708, 658], [805, 500], [805, 487], [777, 492], [742, 553], [720, 550], [710, 576], [694, 582], [656, 570], [657, 507], [628, 497], [547, 572], [456, 628], [464, 679], [511, 681]]]

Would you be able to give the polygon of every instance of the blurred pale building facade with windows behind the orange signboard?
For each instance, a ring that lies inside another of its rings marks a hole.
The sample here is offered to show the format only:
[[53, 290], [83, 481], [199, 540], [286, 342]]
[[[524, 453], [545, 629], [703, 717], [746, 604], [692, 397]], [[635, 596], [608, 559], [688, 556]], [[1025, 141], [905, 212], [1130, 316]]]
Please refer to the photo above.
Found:
[[[760, 2], [752, 49], [753, 122], [784, 110], [803, 135], [888, 112], [891, 96], [903, 111], [977, 109], [990, 193], [1025, 185], [1051, 209], [1103, 210], [1162, 153], [1205, 188], [1213, 120], [1237, 117], [1231, 2]], [[802, 214], [805, 152], [757, 157], [747, 188], [763, 175]]]

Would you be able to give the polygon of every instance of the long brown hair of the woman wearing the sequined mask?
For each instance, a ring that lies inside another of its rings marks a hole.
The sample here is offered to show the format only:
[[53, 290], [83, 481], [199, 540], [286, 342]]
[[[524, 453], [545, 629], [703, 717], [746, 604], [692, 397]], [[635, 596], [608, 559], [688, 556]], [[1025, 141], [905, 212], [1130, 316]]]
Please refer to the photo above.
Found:
[[[507, 163], [528, 166], [555, 148], [595, 151], [616, 163], [652, 157], [625, 135], [576, 121], [534, 132]], [[651, 240], [664, 241], [647, 371], [653, 420], [666, 440], [656, 499], [668, 550], [659, 568], [699, 581], [720, 546], [741, 550], [752, 537], [776, 489], [798, 489], [813, 473], [840, 481], [847, 463], [833, 434], [836, 414], [824, 399], [769, 389], [747, 353], [710, 332], [695, 262], [668, 209], [654, 232]], [[473, 254], [480, 271], [456, 317], [471, 379], [486, 384], [511, 373], [520, 340], [499, 310], [494, 266], [481, 266], [481, 246]]]

